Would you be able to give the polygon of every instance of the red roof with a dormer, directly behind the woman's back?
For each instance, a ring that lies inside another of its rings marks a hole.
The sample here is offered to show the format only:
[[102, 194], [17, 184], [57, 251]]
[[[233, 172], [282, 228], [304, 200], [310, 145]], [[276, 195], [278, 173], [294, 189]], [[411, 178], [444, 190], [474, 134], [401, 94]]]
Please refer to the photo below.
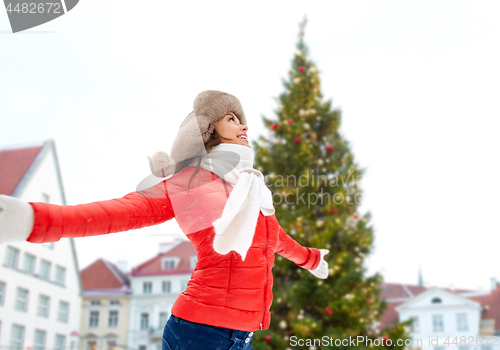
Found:
[[[131, 276], [155, 276], [191, 273], [191, 257], [196, 256], [196, 249], [189, 241], [182, 241], [165, 253], [160, 253], [154, 258], [132, 269]], [[162, 270], [161, 261], [165, 257], [179, 257], [181, 260], [175, 270]]]

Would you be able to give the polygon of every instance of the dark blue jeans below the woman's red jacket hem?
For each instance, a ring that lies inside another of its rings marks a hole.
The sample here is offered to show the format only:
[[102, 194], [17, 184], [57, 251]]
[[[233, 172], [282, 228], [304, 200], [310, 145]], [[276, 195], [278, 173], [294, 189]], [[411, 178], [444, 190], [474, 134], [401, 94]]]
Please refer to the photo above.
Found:
[[170, 315], [163, 331], [162, 350], [253, 350], [253, 333]]

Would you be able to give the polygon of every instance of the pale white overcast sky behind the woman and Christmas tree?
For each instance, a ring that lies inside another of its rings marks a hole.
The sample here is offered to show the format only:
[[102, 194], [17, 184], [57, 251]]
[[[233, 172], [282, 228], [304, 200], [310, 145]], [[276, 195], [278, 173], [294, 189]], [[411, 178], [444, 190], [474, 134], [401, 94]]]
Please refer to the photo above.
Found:
[[[430, 285], [489, 288], [500, 279], [498, 1], [82, 0], [17, 34], [0, 11], [0, 148], [54, 139], [75, 205], [134, 191], [203, 90], [237, 96], [249, 138], [267, 135], [261, 115], [273, 116], [304, 15], [323, 95], [367, 168], [368, 273], [416, 284], [420, 265]], [[80, 267], [138, 265], [180, 232], [172, 220], [77, 239]]]

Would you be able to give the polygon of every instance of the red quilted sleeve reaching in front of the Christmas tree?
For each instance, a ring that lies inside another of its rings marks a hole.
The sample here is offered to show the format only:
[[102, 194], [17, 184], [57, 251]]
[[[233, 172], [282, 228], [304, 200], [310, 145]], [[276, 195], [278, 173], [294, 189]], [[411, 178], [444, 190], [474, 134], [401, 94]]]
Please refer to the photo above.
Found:
[[314, 270], [321, 261], [321, 253], [318, 249], [301, 246], [287, 235], [281, 226], [276, 253], [293, 261], [297, 266], [308, 270]]

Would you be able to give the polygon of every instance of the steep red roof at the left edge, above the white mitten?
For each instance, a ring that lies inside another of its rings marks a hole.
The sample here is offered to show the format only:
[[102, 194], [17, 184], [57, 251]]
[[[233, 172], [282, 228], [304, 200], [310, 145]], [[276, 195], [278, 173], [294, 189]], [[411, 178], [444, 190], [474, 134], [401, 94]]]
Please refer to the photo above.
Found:
[[0, 194], [11, 196], [43, 146], [0, 150]]

